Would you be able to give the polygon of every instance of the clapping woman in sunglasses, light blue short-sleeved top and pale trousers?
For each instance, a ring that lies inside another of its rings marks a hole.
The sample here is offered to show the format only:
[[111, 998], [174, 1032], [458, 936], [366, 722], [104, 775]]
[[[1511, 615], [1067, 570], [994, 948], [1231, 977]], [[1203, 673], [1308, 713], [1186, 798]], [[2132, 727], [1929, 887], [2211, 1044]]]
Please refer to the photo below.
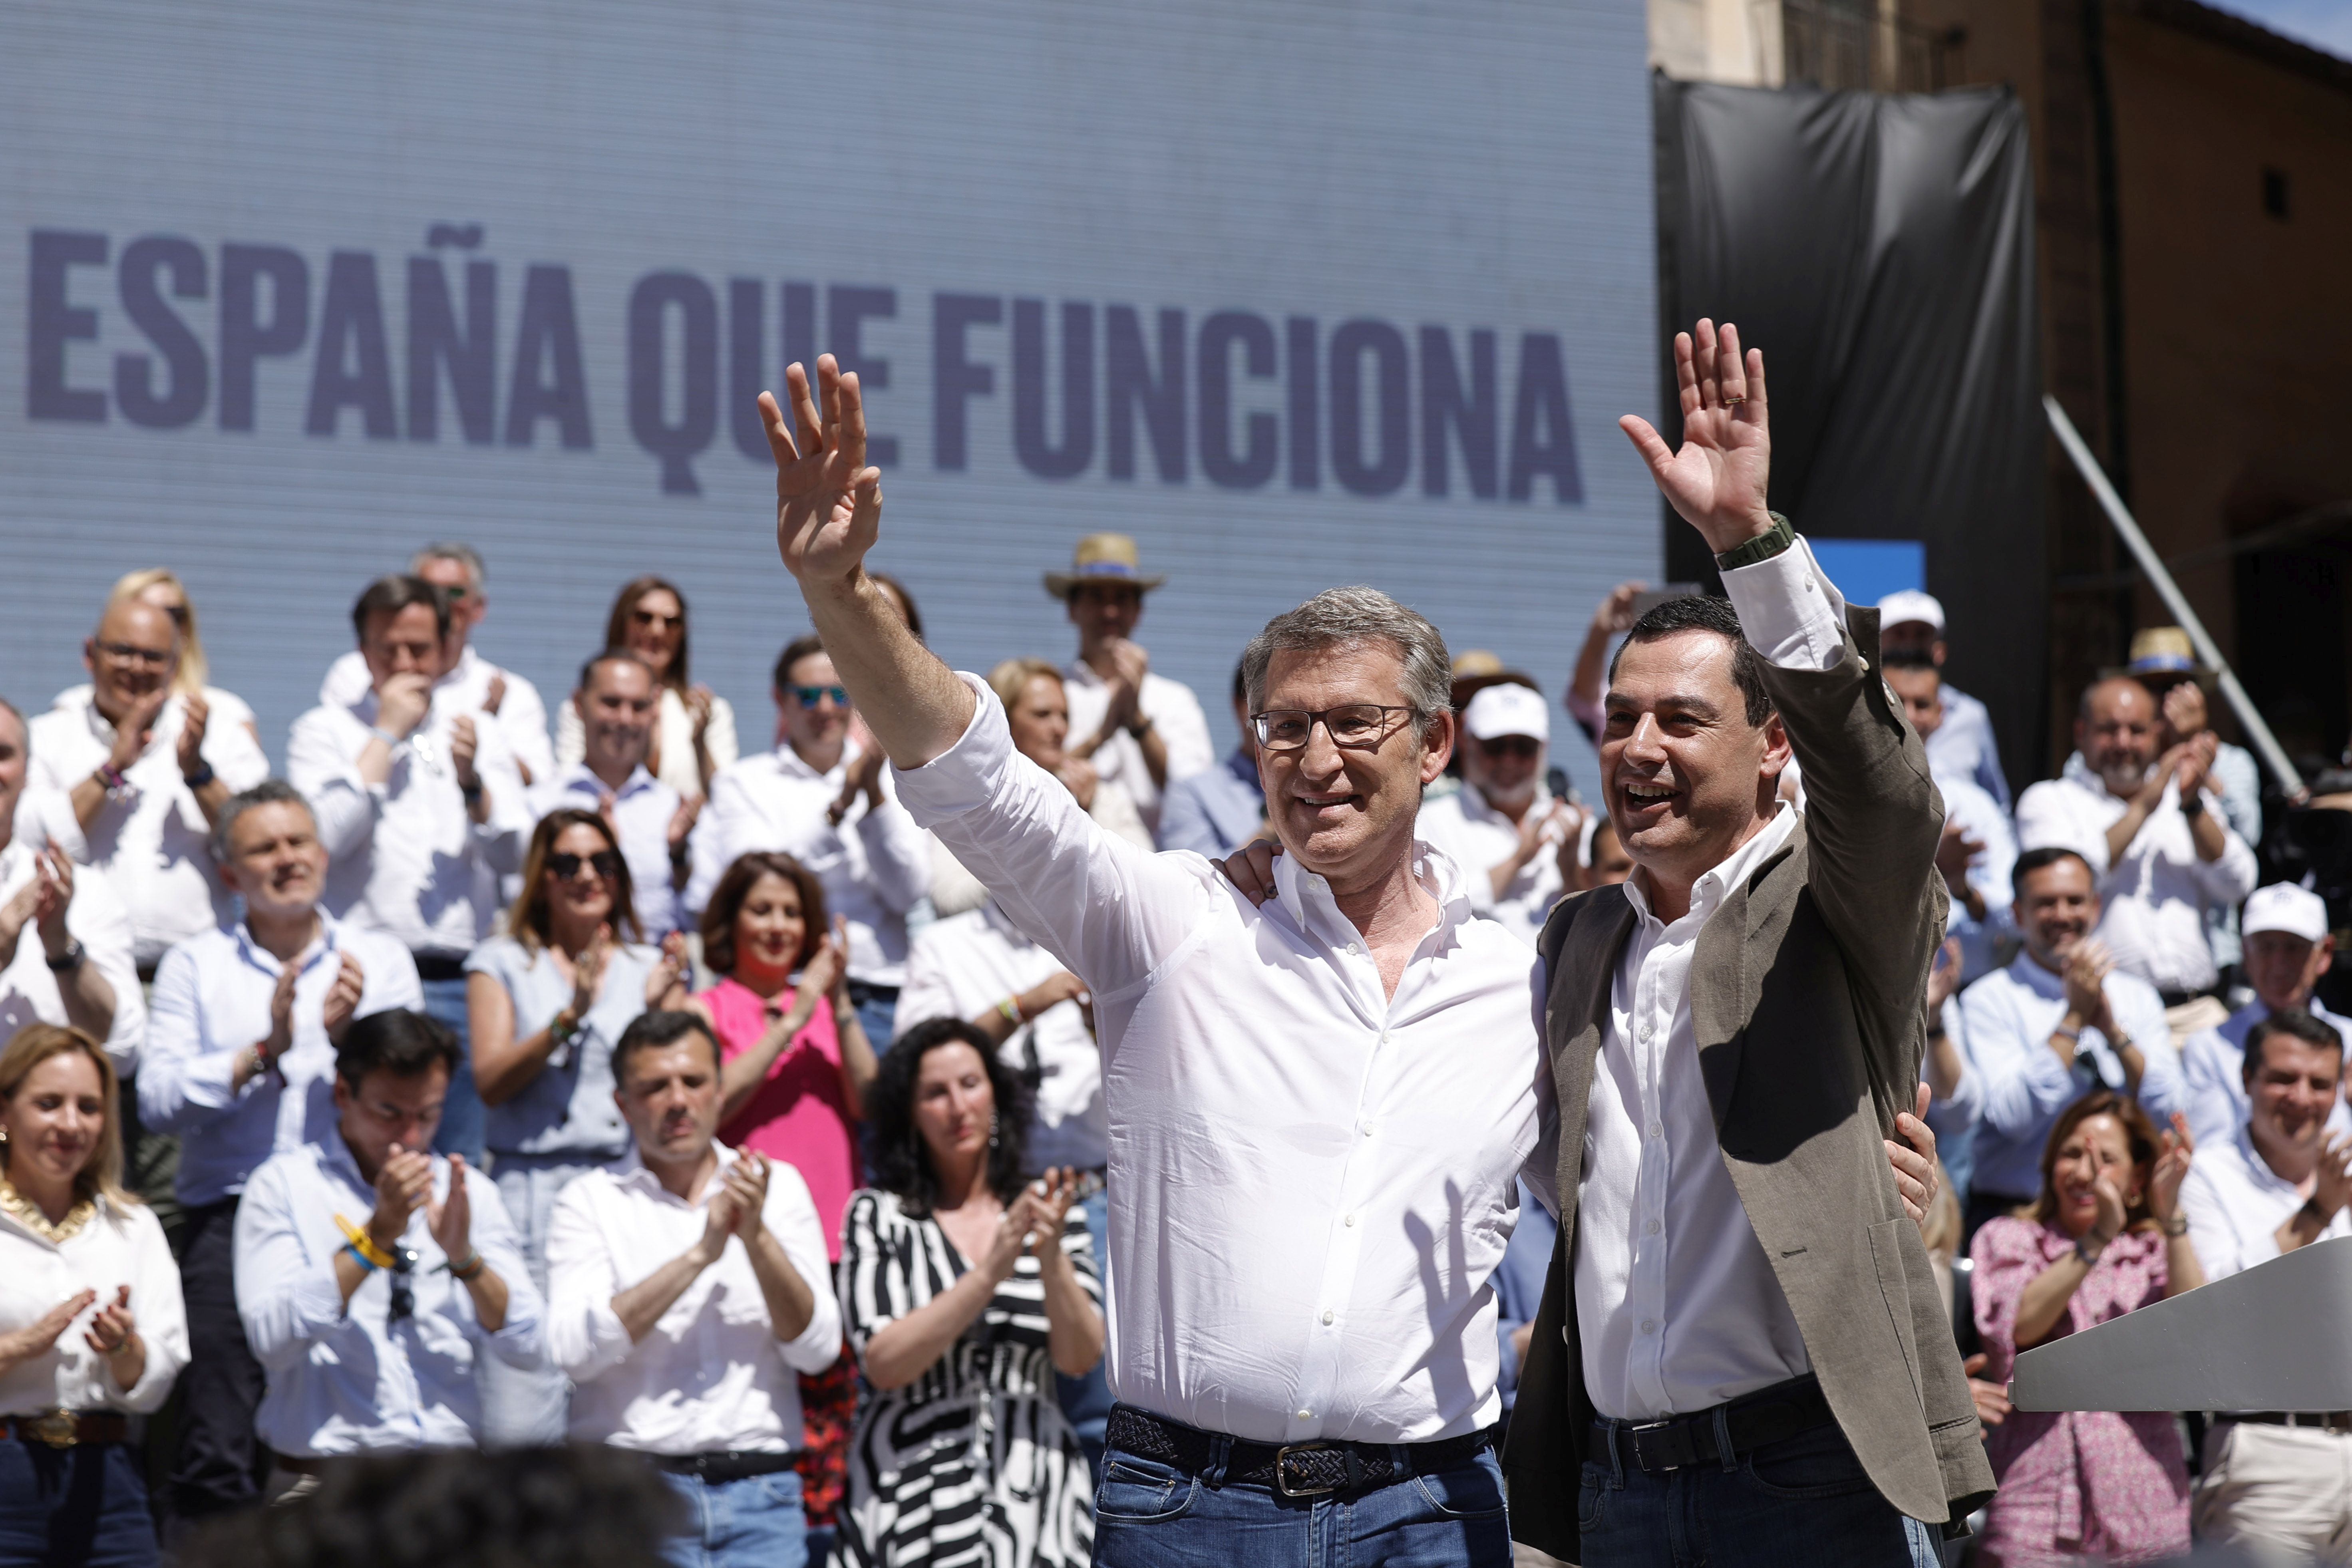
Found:
[[[541, 1291], [555, 1197], [574, 1175], [628, 1152], [612, 1046], [637, 1013], [684, 1001], [684, 938], [673, 933], [654, 950], [637, 936], [612, 825], [564, 809], [532, 832], [506, 936], [466, 959], [473, 1081], [489, 1107], [482, 1143]], [[485, 1366], [482, 1425], [494, 1443], [560, 1443], [562, 1375]]]

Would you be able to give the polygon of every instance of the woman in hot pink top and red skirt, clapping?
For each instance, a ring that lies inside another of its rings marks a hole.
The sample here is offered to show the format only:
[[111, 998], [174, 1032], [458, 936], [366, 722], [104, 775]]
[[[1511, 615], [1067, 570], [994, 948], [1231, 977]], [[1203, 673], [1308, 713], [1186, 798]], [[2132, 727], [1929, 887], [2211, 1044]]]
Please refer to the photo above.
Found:
[[[689, 1006], [720, 1039], [720, 1138], [781, 1159], [809, 1182], [826, 1255], [842, 1260], [842, 1211], [863, 1185], [856, 1121], [880, 1065], [849, 1006], [847, 926], [826, 938], [826, 891], [793, 856], [739, 856], [703, 910], [703, 961], [722, 978]], [[826, 1561], [849, 1467], [856, 1356], [800, 1380], [800, 1493], [809, 1561]]]

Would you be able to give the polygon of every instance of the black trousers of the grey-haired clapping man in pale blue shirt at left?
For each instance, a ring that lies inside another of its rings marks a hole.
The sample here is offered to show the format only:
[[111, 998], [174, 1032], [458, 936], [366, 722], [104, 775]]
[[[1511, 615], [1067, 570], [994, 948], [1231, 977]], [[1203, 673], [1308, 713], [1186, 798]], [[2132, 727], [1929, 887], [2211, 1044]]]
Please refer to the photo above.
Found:
[[172, 1462], [172, 1512], [202, 1519], [261, 1500], [261, 1363], [245, 1345], [238, 1316], [238, 1199], [186, 1211], [179, 1291], [188, 1302], [188, 1371], [179, 1375], [179, 1455]]

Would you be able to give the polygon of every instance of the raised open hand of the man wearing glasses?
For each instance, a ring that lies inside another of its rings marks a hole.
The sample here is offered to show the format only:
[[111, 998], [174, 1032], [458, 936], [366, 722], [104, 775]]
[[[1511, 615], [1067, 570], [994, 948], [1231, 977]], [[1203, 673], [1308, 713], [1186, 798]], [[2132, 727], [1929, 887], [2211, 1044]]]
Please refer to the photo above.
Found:
[[760, 393], [760, 421], [776, 454], [776, 550], [800, 581], [844, 578], [882, 534], [882, 470], [866, 465], [866, 402], [856, 374], [833, 355], [783, 374], [793, 397], [786, 425], [774, 393]]

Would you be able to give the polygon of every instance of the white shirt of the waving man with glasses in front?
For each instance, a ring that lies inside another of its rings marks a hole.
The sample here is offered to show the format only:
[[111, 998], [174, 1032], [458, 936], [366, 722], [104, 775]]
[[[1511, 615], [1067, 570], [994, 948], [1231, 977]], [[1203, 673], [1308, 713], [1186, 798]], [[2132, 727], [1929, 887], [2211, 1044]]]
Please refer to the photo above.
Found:
[[898, 790], [1094, 992], [1110, 1389], [1261, 1443], [1494, 1422], [1486, 1276], [1557, 1133], [1534, 954], [1418, 846], [1437, 919], [1388, 997], [1322, 877], [1282, 856], [1251, 907], [1204, 858], [1112, 837], [962, 679], [971, 726]]

